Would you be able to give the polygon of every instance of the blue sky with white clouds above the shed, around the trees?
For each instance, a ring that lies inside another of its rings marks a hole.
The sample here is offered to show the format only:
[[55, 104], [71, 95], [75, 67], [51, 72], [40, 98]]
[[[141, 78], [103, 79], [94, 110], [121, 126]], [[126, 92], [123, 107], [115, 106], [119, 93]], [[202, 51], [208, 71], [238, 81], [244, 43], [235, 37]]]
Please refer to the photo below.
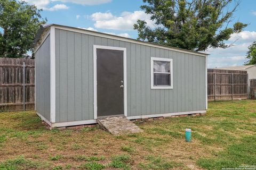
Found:
[[[140, 9], [142, 0], [26, 0], [43, 8], [42, 16], [48, 23], [68, 25], [100, 32], [112, 33], [119, 36], [137, 38], [137, 31], [132, 28], [137, 19], [149, 20]], [[234, 46], [227, 49], [211, 49], [208, 66], [227, 67], [243, 65], [247, 47], [256, 40], [256, 1], [241, 0], [234, 13], [233, 23], [240, 21], [249, 24], [243, 32], [231, 36], [227, 43]], [[232, 23], [230, 23], [231, 25]]]

